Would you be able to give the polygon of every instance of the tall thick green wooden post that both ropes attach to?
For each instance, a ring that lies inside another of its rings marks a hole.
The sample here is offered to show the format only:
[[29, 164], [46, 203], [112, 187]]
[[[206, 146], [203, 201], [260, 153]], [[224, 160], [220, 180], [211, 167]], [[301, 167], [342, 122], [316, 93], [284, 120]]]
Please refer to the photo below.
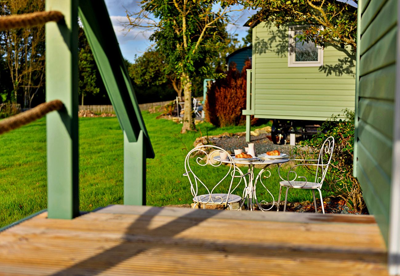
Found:
[[46, 115], [48, 217], [79, 214], [78, 156], [78, 0], [46, 0], [46, 10], [64, 22], [46, 24], [46, 101], [65, 108]]

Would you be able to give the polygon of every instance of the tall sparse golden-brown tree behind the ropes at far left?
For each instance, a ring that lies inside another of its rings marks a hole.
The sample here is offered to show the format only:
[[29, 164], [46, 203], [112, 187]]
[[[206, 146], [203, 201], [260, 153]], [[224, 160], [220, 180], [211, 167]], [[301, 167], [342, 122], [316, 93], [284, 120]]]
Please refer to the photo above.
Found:
[[[0, 8], [2, 16], [42, 10], [44, 0], [5, 0]], [[44, 85], [44, 26], [6, 30], [0, 38], [1, 55], [6, 60], [12, 80], [11, 101], [17, 103], [22, 90], [24, 107], [30, 107]]]

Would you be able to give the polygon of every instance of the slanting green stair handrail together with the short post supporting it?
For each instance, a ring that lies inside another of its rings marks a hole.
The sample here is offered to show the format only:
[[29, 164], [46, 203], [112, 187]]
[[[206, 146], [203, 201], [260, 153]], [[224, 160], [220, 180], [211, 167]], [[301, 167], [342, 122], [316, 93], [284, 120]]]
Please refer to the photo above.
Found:
[[80, 1], [78, 12], [124, 132], [124, 204], [146, 204], [146, 158], [154, 152], [104, 1]]

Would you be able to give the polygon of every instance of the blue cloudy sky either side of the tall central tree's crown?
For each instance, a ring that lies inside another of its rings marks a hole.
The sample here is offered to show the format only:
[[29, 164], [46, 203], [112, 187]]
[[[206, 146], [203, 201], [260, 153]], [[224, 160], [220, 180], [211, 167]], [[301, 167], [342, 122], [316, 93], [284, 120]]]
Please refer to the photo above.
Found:
[[[122, 26], [123, 22], [127, 22], [126, 10], [130, 12], [138, 12], [140, 10], [140, 1], [136, 0], [105, 0], [110, 14], [114, 32], [120, 44], [122, 55], [130, 62], [134, 62], [135, 55], [142, 55], [148, 47], [152, 45], [152, 41], [148, 39], [150, 32], [142, 32], [142, 30], [130, 30], [127, 32]], [[239, 41], [247, 35], [248, 27], [243, 24], [254, 14], [255, 11], [244, 10], [235, 12], [233, 15], [236, 25], [228, 25], [228, 32], [238, 34]]]

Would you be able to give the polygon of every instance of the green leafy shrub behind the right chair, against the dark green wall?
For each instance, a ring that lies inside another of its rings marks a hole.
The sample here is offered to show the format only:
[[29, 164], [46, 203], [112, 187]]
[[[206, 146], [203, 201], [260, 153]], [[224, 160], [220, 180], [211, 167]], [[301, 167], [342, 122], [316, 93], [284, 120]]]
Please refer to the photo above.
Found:
[[[353, 176], [354, 111], [345, 109], [343, 112], [345, 120], [337, 120], [338, 116], [332, 116], [322, 124], [320, 133], [310, 140], [300, 141], [294, 149], [294, 154], [300, 159], [318, 159], [323, 142], [329, 136], [333, 136], [335, 147], [322, 189], [341, 197], [354, 211], [361, 213], [365, 203], [360, 184]], [[312, 167], [307, 169], [313, 170]]]

